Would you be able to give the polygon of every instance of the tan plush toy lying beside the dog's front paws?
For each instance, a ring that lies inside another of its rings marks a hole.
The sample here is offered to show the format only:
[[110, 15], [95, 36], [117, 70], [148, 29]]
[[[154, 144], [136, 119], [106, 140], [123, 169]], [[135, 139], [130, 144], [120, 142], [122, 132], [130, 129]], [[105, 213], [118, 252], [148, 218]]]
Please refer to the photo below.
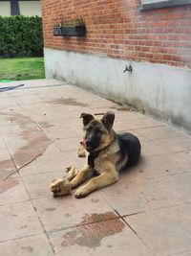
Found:
[[61, 178], [53, 179], [53, 182], [50, 185], [50, 190], [53, 192], [53, 197], [62, 197], [71, 194], [72, 184], [70, 181], [75, 175], [77, 175], [77, 170], [72, 166], [68, 166], [66, 168], [66, 173], [67, 175]]

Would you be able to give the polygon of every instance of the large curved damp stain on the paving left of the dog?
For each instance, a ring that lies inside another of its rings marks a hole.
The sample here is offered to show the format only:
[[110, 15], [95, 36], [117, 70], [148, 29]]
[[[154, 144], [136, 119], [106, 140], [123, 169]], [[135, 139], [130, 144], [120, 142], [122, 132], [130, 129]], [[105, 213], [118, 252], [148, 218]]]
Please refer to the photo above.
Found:
[[22, 132], [20, 133], [20, 137], [27, 143], [27, 145], [16, 150], [12, 155], [17, 168], [30, 162], [36, 155], [44, 153], [46, 148], [50, 145], [51, 140], [37, 127], [29, 116], [14, 111], [4, 112], [3, 115], [6, 115], [8, 120], [11, 120], [21, 128]]

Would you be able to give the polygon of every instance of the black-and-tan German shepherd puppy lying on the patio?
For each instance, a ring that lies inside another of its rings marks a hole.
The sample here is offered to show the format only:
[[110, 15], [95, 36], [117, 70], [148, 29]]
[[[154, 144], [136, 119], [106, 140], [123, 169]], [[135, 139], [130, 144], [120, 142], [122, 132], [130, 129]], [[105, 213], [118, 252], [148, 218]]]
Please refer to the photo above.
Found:
[[93, 191], [111, 185], [118, 180], [118, 173], [138, 162], [140, 143], [129, 133], [117, 134], [114, 129], [115, 113], [108, 111], [101, 120], [91, 114], [82, 113], [87, 163], [71, 180], [73, 189], [90, 180], [75, 191], [75, 198], [84, 198]]

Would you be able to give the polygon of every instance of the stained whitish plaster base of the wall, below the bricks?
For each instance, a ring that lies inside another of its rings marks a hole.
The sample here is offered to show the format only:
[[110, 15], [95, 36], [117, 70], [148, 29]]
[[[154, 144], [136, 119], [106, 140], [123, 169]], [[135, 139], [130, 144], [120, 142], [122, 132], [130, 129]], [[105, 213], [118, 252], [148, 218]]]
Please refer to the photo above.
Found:
[[[69, 81], [191, 130], [191, 69], [46, 48], [48, 79]], [[131, 64], [132, 73], [123, 73]]]

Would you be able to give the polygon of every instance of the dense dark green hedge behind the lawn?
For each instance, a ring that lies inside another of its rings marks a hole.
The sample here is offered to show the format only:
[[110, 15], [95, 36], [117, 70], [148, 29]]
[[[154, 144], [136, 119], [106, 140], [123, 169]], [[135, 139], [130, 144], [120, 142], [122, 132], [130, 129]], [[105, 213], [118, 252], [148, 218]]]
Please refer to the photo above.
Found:
[[0, 57], [43, 56], [42, 18], [0, 16]]

